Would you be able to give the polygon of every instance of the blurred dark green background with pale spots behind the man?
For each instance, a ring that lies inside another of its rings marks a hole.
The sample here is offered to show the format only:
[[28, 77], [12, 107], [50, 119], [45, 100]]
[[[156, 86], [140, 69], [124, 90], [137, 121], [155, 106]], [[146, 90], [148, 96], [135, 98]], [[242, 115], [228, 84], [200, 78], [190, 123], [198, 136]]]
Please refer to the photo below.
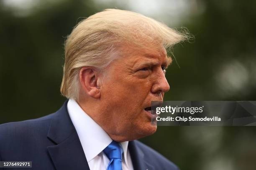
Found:
[[[0, 123], [59, 109], [65, 37], [105, 8], [195, 36], [174, 47], [165, 100], [256, 100], [255, 0], [0, 0]], [[141, 141], [181, 170], [256, 169], [256, 127], [159, 127]]]

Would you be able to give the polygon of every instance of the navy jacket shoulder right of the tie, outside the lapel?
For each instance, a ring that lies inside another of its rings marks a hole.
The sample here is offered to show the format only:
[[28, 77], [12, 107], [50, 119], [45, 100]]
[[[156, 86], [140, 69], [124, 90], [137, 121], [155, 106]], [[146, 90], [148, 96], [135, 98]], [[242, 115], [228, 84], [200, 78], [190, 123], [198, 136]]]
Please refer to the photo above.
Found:
[[172, 163], [170, 160], [166, 159], [163, 155], [160, 153], [156, 152], [156, 150], [148, 147], [147, 145], [141, 143], [138, 140], [134, 141], [136, 143], [136, 146], [138, 146], [139, 149], [144, 154], [145, 159], [149, 163], [157, 163], [155, 165], [158, 166], [157, 169], [161, 170], [179, 170], [179, 168]]

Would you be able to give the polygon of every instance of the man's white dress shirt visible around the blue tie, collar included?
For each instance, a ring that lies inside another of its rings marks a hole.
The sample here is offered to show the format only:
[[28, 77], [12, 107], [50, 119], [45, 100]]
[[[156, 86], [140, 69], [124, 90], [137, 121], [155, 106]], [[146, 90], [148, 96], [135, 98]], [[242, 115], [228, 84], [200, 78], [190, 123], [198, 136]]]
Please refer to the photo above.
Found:
[[[82, 144], [90, 170], [106, 170], [110, 160], [102, 151], [113, 141], [75, 100], [69, 99], [67, 110]], [[122, 168], [133, 170], [128, 141], [120, 143], [123, 148]]]

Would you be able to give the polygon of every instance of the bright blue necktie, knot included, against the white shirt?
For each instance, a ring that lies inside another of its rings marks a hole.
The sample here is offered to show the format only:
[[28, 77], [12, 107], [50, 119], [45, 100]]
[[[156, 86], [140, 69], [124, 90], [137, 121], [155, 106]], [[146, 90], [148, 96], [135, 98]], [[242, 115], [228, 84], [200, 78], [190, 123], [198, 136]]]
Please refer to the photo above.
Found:
[[122, 147], [114, 140], [103, 150], [110, 160], [107, 170], [122, 170]]

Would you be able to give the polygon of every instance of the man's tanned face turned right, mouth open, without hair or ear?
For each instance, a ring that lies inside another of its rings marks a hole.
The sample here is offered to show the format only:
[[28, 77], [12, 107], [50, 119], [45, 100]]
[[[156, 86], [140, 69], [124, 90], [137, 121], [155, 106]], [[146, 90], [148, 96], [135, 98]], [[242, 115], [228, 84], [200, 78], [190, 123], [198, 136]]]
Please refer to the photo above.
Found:
[[155, 133], [153, 115], [146, 108], [151, 101], [162, 101], [169, 90], [165, 69], [171, 59], [164, 47], [133, 51], [125, 47], [123, 51], [106, 69], [100, 96], [102, 128], [117, 141]]

